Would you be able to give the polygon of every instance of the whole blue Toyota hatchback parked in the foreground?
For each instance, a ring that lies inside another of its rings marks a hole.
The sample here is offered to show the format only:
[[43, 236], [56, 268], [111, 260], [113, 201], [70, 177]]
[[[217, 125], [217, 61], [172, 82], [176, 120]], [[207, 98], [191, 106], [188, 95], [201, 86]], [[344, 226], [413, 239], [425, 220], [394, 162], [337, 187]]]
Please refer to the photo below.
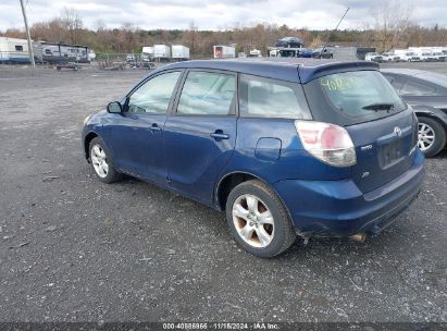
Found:
[[297, 234], [388, 226], [423, 180], [417, 130], [376, 63], [187, 61], [88, 117], [83, 147], [100, 181], [126, 173], [223, 210], [241, 247], [272, 257]]

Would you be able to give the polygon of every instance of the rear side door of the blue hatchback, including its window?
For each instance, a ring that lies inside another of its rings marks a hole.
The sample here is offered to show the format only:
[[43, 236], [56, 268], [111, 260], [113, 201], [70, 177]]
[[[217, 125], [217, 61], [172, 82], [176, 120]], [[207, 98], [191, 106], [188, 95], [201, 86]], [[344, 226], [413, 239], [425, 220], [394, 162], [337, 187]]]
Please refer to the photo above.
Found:
[[236, 77], [190, 70], [164, 125], [169, 185], [206, 204], [236, 143]]

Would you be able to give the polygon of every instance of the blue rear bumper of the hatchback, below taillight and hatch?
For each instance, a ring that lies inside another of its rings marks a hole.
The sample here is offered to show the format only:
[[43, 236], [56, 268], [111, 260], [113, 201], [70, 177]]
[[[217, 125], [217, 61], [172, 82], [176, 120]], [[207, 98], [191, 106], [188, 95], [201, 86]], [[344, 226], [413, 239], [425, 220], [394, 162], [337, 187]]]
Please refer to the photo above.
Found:
[[349, 236], [378, 234], [418, 197], [424, 177], [424, 157], [418, 149], [413, 166], [400, 176], [367, 194], [351, 180], [277, 182], [298, 235]]

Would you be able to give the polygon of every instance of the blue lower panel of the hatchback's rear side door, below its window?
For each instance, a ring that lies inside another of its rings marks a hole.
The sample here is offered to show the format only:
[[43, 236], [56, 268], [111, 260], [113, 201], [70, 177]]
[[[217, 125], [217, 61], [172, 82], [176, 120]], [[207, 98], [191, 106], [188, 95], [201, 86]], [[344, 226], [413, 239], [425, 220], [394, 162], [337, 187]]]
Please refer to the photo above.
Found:
[[[164, 126], [170, 188], [212, 205], [214, 182], [234, 152], [236, 117], [170, 117]], [[213, 133], [227, 135], [214, 138]]]

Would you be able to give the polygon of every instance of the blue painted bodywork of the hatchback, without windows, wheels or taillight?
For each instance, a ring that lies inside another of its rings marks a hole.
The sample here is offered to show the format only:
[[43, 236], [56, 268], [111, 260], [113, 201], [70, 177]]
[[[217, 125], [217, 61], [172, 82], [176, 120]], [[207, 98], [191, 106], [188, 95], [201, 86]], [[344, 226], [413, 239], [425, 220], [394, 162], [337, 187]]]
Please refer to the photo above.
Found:
[[[177, 69], [231, 71], [302, 84], [335, 72], [377, 70], [377, 64], [306, 59], [188, 61], [165, 65], [145, 79]], [[175, 91], [172, 100], [178, 94]], [[123, 98], [122, 103], [125, 101]], [[277, 193], [302, 236], [376, 234], [412, 203], [422, 183], [424, 158], [409, 139], [399, 149], [402, 162], [389, 164], [380, 156], [386, 158], [381, 146], [393, 142], [395, 137], [387, 133], [396, 125], [403, 136], [412, 134], [408, 128], [411, 110], [347, 126], [357, 164], [336, 168], [303, 149], [295, 120], [178, 115], [174, 108], [172, 101], [163, 115], [101, 111], [84, 126], [83, 142], [91, 134], [101, 136], [119, 171], [216, 209], [222, 209], [218, 193], [226, 176], [244, 173], [258, 177]], [[151, 130], [153, 124], [161, 130]], [[380, 138], [371, 142], [373, 133]], [[363, 150], [365, 145], [371, 147]], [[86, 146], [84, 149], [88, 158]], [[374, 176], [365, 179], [365, 173]]]

